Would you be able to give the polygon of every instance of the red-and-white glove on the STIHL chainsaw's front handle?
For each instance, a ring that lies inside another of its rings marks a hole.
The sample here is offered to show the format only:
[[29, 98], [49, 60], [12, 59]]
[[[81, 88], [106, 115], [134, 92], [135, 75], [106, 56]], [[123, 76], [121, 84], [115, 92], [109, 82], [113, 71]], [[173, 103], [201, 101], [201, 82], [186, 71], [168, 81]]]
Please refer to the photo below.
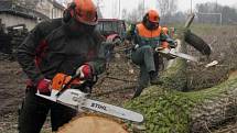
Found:
[[93, 69], [91, 66], [85, 64], [82, 65], [77, 70], [76, 70], [76, 75], [80, 78], [80, 79], [89, 79], [93, 78]]

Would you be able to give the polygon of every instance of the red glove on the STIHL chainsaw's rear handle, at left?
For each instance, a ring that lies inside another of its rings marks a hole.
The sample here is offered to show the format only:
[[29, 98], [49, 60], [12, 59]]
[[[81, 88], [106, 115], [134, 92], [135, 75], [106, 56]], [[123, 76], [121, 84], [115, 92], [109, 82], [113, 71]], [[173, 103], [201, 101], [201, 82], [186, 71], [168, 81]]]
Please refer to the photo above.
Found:
[[46, 78], [43, 78], [37, 82], [36, 88], [37, 88], [40, 93], [50, 95], [51, 93], [50, 85], [51, 85], [51, 80], [46, 79]]

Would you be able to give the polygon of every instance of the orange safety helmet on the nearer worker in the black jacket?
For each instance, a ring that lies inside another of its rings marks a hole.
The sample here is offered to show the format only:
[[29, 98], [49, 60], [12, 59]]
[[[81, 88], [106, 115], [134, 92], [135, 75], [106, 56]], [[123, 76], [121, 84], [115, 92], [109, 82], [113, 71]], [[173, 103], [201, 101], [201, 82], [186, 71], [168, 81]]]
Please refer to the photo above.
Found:
[[98, 23], [96, 5], [91, 0], [74, 0], [64, 12], [65, 22], [71, 18], [87, 25]]

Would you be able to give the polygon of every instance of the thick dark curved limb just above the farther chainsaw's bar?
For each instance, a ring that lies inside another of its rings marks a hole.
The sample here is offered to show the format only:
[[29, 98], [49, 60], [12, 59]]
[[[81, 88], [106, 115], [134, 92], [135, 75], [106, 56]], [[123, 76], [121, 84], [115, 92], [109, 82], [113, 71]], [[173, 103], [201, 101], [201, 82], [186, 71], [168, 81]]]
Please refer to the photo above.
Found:
[[185, 42], [200, 51], [203, 55], [211, 55], [212, 53], [209, 45], [191, 31], [185, 34]]

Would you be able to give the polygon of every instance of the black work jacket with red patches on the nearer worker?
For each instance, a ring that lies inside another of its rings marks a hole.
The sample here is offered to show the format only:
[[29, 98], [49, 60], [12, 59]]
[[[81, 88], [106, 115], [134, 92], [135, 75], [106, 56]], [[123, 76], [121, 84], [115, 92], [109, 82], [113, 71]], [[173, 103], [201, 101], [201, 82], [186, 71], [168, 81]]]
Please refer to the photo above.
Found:
[[95, 75], [105, 70], [101, 35], [82, 33], [69, 37], [62, 19], [37, 24], [18, 48], [18, 60], [33, 81], [52, 79], [57, 73], [74, 75], [83, 64], [89, 64]]

